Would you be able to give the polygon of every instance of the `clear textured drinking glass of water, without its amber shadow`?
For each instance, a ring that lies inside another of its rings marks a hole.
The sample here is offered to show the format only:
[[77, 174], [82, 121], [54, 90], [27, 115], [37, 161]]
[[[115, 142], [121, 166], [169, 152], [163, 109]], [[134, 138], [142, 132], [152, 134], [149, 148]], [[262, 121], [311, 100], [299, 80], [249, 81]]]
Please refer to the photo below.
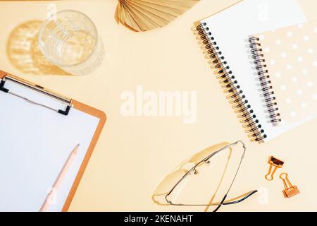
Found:
[[84, 76], [92, 73], [104, 59], [104, 44], [92, 20], [73, 10], [50, 16], [39, 31], [39, 49], [51, 64]]

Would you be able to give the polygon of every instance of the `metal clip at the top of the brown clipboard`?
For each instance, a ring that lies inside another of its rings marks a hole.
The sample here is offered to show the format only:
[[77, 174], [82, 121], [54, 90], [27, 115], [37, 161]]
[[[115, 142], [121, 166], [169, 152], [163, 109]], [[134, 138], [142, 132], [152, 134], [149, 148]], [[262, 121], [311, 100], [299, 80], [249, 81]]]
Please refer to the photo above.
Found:
[[[54, 109], [52, 107], [49, 107], [47, 105], [43, 105], [42, 103], [39, 103], [39, 102], [35, 102], [35, 101], [32, 101], [26, 97], [23, 97], [21, 95], [18, 95], [17, 93], [13, 93], [11, 90], [9, 90], [8, 88], [5, 88], [5, 84], [6, 84], [6, 81], [11, 81], [13, 83], [17, 83], [18, 85], [23, 85], [24, 87], [26, 88], [30, 88], [32, 90], [35, 90], [36, 92], [38, 93], [42, 93], [44, 95], [47, 95], [49, 97], [52, 97], [56, 100], [59, 100], [61, 102], [64, 102], [67, 106], [66, 106], [66, 109]], [[31, 104], [33, 105], [39, 105], [39, 106], [42, 106], [42, 107], [45, 107], [46, 109], [50, 109], [54, 112], [57, 112], [59, 114], [63, 114], [63, 115], [68, 115], [68, 113], [70, 112], [70, 107], [72, 107], [71, 105], [71, 100], [66, 98], [66, 97], [61, 97], [60, 95], [57, 95], [55, 93], [52, 93], [51, 91], [49, 90], [44, 90], [43, 87], [39, 86], [39, 85], [33, 85], [33, 84], [30, 84], [30, 83], [27, 83], [25, 81], [20, 81], [18, 79], [15, 79], [11, 76], [5, 76], [1, 81], [0, 81], [0, 90], [3, 91], [4, 93], [8, 93], [8, 94], [11, 94], [11, 95], [14, 95], [15, 97], [18, 97], [20, 99], [23, 99], [27, 102], [30, 102]]]

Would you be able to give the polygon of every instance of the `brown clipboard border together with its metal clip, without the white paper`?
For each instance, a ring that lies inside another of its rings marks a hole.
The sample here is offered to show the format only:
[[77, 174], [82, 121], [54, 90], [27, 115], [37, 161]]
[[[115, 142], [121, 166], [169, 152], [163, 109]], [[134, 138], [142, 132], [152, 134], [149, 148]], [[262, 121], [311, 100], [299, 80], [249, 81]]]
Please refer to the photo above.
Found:
[[[43, 88], [40, 85], [37, 85], [35, 83], [30, 83], [29, 81], [25, 81], [22, 78], [18, 78], [17, 76], [14, 76], [12, 74], [6, 73], [5, 71], [0, 71], [0, 92], [4, 93], [10, 93], [15, 95], [17, 98], [25, 99], [26, 101], [30, 102], [31, 104], [35, 105], [41, 105], [41, 107], [46, 107], [49, 110], [56, 111], [56, 114], [61, 114], [63, 117], [68, 117], [69, 112], [72, 109], [77, 109], [80, 112], [83, 112], [85, 114], [89, 114], [92, 117], [96, 117], [99, 119], [99, 122], [97, 123], [97, 127], [94, 131], [94, 134], [92, 136], [92, 139], [87, 145], [87, 151], [85, 153], [85, 157], [83, 157], [82, 162], [80, 164], [79, 170], [77, 171], [77, 174], [75, 175], [75, 180], [73, 181], [73, 184], [71, 185], [70, 191], [67, 195], [65, 203], [63, 203], [63, 208], [61, 211], [66, 212], [68, 211], [68, 208], [70, 206], [71, 201], [73, 200], [73, 197], [75, 195], [75, 192], [77, 190], [77, 187], [80, 183], [80, 180], [82, 179], [82, 175], [85, 172], [85, 169], [87, 167], [87, 164], [89, 162], [89, 158], [92, 155], [92, 152], [94, 150], [94, 147], [98, 141], [98, 138], [101, 134], [101, 131], [104, 127], [104, 124], [106, 123], [106, 114], [102, 112], [99, 109], [95, 109], [93, 107], [89, 107], [88, 105], [83, 104], [82, 102], [78, 102], [77, 100], [70, 99], [68, 97], [64, 97], [63, 95], [59, 95], [58, 93], [54, 93], [51, 90], [48, 90], [46, 88]], [[32, 102], [32, 100], [28, 100], [16, 93], [13, 93], [13, 91], [8, 90], [6, 88], [6, 82], [11, 81], [13, 83], [18, 83], [19, 85], [23, 85], [25, 88], [35, 91], [36, 93], [39, 93], [40, 95], [46, 95], [51, 98], [55, 98], [56, 100], [59, 100], [61, 102], [64, 102], [66, 104], [66, 107], [64, 109], [53, 109], [52, 107], [42, 105], [37, 102]]]

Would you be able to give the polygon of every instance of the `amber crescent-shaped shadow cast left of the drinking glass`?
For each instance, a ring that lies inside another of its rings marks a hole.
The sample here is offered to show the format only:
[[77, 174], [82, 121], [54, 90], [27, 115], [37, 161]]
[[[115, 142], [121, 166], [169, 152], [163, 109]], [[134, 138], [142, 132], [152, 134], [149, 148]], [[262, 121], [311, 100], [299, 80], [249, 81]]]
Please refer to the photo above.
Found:
[[32, 20], [18, 25], [7, 42], [8, 59], [16, 69], [32, 75], [69, 76], [45, 59], [38, 45], [39, 30], [43, 21]]

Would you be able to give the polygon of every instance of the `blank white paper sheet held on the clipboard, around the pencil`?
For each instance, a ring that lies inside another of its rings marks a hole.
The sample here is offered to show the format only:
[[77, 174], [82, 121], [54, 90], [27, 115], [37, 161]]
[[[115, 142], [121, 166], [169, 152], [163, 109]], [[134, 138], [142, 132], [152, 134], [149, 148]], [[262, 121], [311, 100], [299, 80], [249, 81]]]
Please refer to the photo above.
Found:
[[[21, 85], [9, 88], [61, 109], [61, 102]], [[71, 151], [80, 148], [54, 196], [49, 211], [61, 211], [99, 119], [71, 108], [68, 116], [0, 92], [0, 211], [38, 211]]]

